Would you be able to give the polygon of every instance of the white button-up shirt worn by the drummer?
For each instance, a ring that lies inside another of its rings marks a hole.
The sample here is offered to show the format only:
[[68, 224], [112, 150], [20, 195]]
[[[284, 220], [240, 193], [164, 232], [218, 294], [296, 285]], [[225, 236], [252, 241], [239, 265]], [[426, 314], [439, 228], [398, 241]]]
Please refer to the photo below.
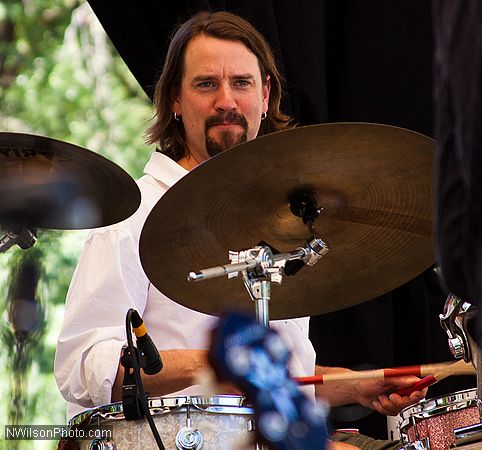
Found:
[[[111, 401], [129, 308], [141, 314], [159, 350], [207, 349], [216, 318], [167, 298], [149, 281], [141, 266], [139, 239], [149, 212], [162, 195], [188, 172], [155, 152], [138, 185], [139, 209], [127, 220], [93, 230], [74, 272], [65, 319], [55, 355], [57, 384], [68, 402], [67, 416]], [[293, 376], [314, 373], [315, 352], [308, 339], [309, 318], [272, 321], [292, 351]], [[314, 395], [314, 388], [308, 387]], [[171, 395], [202, 395], [191, 386]]]

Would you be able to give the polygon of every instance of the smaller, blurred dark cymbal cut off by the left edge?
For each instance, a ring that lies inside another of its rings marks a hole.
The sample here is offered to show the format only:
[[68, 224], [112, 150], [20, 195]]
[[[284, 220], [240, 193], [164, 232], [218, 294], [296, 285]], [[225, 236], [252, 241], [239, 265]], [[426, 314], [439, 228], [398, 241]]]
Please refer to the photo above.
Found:
[[0, 226], [81, 229], [110, 225], [140, 204], [119, 166], [73, 144], [0, 133]]

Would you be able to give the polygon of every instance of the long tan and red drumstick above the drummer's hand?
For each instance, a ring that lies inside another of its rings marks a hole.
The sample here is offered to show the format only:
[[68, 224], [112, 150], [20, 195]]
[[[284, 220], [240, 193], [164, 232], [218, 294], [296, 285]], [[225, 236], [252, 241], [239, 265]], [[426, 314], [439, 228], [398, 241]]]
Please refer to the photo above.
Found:
[[447, 371], [446, 376], [450, 375], [474, 375], [475, 368], [472, 364], [463, 360], [455, 362], [444, 362], [436, 364], [422, 364], [418, 366], [404, 366], [388, 369], [360, 370], [360, 371], [333, 371], [323, 375], [312, 377], [294, 378], [301, 385], [305, 384], [326, 384], [348, 380], [382, 380], [388, 381], [391, 377], [413, 375], [416, 377], [426, 377], [432, 374], [441, 374]]

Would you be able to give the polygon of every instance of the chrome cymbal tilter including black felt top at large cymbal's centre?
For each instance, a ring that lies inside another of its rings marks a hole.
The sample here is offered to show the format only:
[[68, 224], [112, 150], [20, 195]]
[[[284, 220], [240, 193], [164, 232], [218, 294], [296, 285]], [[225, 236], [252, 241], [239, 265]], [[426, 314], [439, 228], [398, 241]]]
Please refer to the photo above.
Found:
[[239, 252], [230, 251], [230, 265], [190, 272], [188, 281], [201, 281], [223, 275], [233, 278], [241, 274], [244, 286], [251, 300], [255, 302], [257, 320], [269, 327], [271, 283], [281, 284], [286, 263], [300, 261], [301, 266], [313, 266], [329, 251], [328, 246], [315, 237], [314, 221], [320, 214], [321, 208], [317, 207], [314, 194], [307, 191], [295, 193], [290, 198], [290, 209], [308, 226], [311, 237], [304, 246], [291, 252], [276, 254], [269, 245], [258, 245]]

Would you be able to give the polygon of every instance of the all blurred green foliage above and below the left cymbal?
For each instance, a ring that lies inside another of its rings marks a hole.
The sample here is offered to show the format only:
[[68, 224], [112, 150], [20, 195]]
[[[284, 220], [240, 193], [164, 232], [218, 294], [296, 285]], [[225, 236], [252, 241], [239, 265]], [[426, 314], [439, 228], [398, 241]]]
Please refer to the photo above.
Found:
[[[151, 116], [148, 99], [85, 2], [0, 2], [0, 131], [40, 134], [80, 145], [136, 178], [151, 151], [143, 142]], [[3, 424], [12, 420], [14, 402], [8, 399], [13, 398], [16, 379], [26, 405], [21, 423], [65, 422], [53, 358], [66, 292], [85, 234], [44, 231], [31, 250], [15, 246], [0, 254], [0, 395], [7, 399], [0, 406], [2, 433]], [[19, 371], [8, 320], [9, 286], [15, 267], [27, 255], [41, 266], [37, 296], [45, 323], [28, 342]], [[1, 440], [0, 448], [55, 448], [55, 443]]]

